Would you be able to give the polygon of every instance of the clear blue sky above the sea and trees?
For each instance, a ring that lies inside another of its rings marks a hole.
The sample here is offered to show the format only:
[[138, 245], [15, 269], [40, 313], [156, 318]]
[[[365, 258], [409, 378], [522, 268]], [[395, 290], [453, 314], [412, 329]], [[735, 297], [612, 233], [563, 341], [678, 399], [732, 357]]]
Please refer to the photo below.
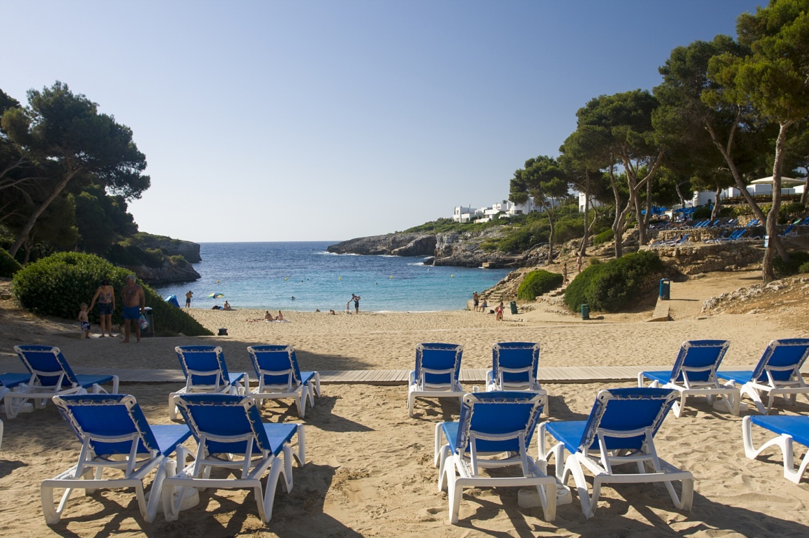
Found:
[[0, 88], [66, 82], [134, 132], [142, 231], [388, 233], [508, 196], [597, 95], [766, 2], [3, 2]]

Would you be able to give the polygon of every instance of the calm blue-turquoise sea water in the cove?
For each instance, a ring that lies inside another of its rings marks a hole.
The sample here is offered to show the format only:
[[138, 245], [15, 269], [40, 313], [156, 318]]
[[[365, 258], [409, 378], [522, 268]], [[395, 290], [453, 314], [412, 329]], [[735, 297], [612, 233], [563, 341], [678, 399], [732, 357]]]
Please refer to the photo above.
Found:
[[[456, 310], [466, 308], [472, 292], [490, 288], [508, 272], [430, 267], [419, 257], [327, 253], [326, 247], [334, 243], [201, 243], [202, 262], [194, 267], [202, 278], [155, 290], [162, 296], [176, 295], [184, 305], [190, 289], [191, 305], [197, 308], [222, 305], [227, 299], [235, 309], [339, 312], [356, 293], [362, 296], [360, 310]], [[211, 293], [224, 297], [211, 299]]]

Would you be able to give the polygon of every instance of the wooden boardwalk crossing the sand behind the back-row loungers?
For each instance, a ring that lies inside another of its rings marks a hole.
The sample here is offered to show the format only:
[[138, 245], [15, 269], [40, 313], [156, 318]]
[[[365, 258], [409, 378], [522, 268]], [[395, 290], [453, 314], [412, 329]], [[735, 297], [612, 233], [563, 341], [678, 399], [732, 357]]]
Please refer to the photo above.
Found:
[[[752, 368], [752, 366], [750, 367]], [[181, 370], [146, 370], [139, 368], [74, 367], [79, 374], [118, 376], [121, 383], [185, 383]], [[569, 366], [540, 368], [540, 382], [587, 383], [637, 380], [637, 372], [670, 370], [671, 366]], [[739, 368], [743, 369], [743, 368]], [[749, 369], [749, 368], [748, 368]], [[22, 372], [22, 364], [12, 359], [0, 359], [0, 372]], [[801, 368], [809, 373], [809, 362]], [[486, 368], [461, 368], [462, 383], [485, 384]], [[254, 372], [248, 372], [256, 382]], [[407, 385], [409, 370], [321, 370], [320, 382], [344, 385]]]

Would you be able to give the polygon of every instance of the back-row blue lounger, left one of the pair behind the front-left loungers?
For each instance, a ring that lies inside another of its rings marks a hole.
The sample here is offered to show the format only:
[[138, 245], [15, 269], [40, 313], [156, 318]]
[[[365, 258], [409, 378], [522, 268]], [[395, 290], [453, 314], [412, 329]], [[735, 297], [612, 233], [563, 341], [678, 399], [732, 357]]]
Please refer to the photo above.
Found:
[[174, 348], [185, 376], [185, 387], [168, 395], [168, 414], [175, 420], [177, 394], [244, 394], [250, 386], [247, 372], [227, 372], [225, 353], [218, 346], [178, 346]]

